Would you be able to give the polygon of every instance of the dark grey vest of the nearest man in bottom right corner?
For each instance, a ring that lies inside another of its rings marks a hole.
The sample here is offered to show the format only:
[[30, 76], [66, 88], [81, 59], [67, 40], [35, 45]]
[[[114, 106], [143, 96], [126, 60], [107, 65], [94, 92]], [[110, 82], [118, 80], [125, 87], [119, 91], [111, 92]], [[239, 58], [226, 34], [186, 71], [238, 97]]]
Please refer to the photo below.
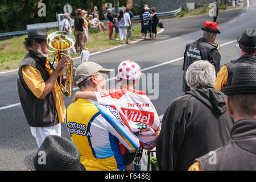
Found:
[[212, 156], [208, 154], [196, 159], [203, 170], [256, 171], [256, 118], [241, 119], [234, 123], [230, 141], [215, 152], [215, 164], [209, 163]]

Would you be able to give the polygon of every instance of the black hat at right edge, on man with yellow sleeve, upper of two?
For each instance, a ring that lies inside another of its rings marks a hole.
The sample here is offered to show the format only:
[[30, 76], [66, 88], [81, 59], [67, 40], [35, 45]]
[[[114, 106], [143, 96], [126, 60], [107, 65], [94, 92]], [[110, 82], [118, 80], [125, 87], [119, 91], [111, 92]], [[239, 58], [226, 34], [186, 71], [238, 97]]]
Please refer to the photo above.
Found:
[[242, 36], [237, 38], [238, 44], [246, 48], [256, 48], [256, 30], [255, 28], [247, 28]]

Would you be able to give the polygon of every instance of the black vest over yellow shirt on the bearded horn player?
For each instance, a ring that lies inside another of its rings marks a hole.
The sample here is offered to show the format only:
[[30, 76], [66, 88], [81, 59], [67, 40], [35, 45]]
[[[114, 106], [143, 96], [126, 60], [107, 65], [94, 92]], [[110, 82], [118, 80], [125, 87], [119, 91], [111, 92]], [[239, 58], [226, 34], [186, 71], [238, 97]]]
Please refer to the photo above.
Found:
[[20, 104], [28, 125], [33, 127], [53, 126], [59, 123], [55, 101], [52, 92], [41, 100], [34, 96], [23, 80], [22, 67], [23, 65], [31, 65], [38, 69], [44, 81], [49, 78], [49, 73], [46, 71], [46, 57], [40, 56], [33, 51], [29, 51], [24, 57], [19, 66], [17, 88], [19, 93]]

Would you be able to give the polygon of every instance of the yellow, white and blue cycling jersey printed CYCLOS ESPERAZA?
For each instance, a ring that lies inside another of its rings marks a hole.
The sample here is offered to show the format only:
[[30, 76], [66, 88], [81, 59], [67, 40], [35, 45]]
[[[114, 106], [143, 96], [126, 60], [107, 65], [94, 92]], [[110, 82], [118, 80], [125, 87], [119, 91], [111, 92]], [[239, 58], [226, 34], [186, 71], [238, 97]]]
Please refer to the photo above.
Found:
[[66, 124], [79, 148], [81, 163], [88, 171], [125, 169], [118, 142], [129, 152], [139, 148], [138, 138], [128, 129], [119, 113], [96, 101], [79, 98], [67, 109]]

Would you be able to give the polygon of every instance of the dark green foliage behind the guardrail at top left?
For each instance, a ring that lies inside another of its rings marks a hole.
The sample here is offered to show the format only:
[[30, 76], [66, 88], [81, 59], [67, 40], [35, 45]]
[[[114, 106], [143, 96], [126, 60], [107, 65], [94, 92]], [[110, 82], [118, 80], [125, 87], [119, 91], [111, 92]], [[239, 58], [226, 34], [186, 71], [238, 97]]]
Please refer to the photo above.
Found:
[[[39, 3], [46, 4], [46, 16], [38, 16]], [[56, 13], [64, 13], [63, 7], [69, 3], [76, 15], [76, 10], [81, 8], [91, 13], [94, 6], [100, 11], [100, 18], [104, 19], [102, 5], [105, 0], [1, 0], [0, 4], [0, 32], [26, 30], [27, 24], [56, 22]]]

